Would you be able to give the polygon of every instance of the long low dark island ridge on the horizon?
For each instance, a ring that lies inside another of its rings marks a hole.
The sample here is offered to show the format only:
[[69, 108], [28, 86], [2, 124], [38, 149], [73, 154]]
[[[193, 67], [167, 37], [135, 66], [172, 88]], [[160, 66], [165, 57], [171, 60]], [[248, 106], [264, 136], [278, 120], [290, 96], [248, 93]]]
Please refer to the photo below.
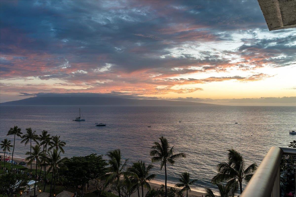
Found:
[[210, 103], [190, 102], [190, 101], [173, 101], [157, 99], [131, 99], [118, 97], [69, 97], [69, 96], [37, 96], [22, 100], [2, 102], [0, 105], [135, 105], [135, 106], [218, 106]]

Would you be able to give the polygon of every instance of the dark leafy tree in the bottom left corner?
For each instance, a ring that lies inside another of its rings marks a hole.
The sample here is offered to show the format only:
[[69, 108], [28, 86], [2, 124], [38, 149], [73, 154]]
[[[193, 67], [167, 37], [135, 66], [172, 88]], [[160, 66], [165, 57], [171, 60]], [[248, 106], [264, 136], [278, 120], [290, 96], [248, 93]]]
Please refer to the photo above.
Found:
[[12, 197], [20, 193], [22, 187], [28, 183], [28, 176], [25, 174], [7, 173], [0, 176], [0, 196]]

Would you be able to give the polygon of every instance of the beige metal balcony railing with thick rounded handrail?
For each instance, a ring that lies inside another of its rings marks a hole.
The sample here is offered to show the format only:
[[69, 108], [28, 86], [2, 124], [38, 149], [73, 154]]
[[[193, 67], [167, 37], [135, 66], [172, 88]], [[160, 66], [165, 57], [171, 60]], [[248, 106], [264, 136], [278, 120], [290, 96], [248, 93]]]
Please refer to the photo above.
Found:
[[241, 197], [280, 197], [280, 164], [283, 154], [296, 155], [296, 149], [271, 147]]

